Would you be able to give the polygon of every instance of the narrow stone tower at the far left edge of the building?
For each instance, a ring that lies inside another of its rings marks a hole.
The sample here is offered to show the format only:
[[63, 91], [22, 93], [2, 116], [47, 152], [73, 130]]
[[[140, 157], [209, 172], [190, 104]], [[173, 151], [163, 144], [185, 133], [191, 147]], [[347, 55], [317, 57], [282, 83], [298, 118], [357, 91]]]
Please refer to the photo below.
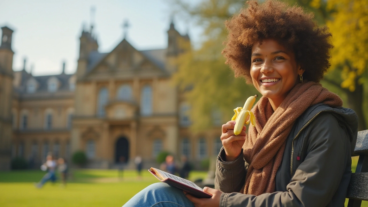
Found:
[[13, 95], [13, 30], [2, 27], [0, 45], [0, 170], [9, 170], [11, 162]]

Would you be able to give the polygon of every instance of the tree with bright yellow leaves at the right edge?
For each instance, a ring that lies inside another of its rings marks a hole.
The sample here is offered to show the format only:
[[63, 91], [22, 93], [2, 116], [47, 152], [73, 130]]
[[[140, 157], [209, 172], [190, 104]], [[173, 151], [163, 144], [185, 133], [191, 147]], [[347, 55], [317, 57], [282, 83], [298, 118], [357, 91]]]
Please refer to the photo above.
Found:
[[367, 0], [312, 0], [310, 5], [324, 10], [326, 25], [335, 48], [325, 81], [347, 95], [348, 106], [359, 117], [358, 130], [367, 129], [368, 4]]

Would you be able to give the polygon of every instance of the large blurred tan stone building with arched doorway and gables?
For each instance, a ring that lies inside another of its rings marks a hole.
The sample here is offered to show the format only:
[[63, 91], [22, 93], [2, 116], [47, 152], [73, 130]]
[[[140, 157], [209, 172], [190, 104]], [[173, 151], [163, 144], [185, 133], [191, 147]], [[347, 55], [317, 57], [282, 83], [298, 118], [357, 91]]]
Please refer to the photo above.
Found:
[[[88, 167], [111, 168], [136, 156], [154, 164], [160, 151], [198, 161], [217, 154], [220, 128], [188, 130], [188, 104], [171, 81], [178, 55], [190, 38], [171, 22], [167, 48], [137, 50], [125, 38], [101, 53], [93, 33], [83, 29], [75, 74], [32, 76], [13, 71], [11, 36], [2, 28], [0, 46], [0, 166], [24, 157], [39, 166], [47, 155], [70, 159], [85, 151]], [[197, 162], [198, 163], [198, 162]]]

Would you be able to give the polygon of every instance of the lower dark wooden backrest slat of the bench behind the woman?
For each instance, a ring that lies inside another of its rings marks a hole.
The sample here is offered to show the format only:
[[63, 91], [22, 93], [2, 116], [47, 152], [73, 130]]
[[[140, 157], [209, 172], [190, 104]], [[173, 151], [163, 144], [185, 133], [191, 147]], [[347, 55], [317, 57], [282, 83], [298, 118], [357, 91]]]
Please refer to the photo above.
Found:
[[346, 197], [368, 201], [368, 172], [351, 173]]

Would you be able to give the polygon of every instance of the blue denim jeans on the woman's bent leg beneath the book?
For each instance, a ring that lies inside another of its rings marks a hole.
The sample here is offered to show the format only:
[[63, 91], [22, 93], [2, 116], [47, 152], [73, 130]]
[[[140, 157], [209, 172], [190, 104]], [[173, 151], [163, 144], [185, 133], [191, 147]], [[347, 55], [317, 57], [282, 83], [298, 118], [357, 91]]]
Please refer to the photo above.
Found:
[[167, 183], [154, 183], [135, 194], [123, 207], [194, 207], [183, 190]]

